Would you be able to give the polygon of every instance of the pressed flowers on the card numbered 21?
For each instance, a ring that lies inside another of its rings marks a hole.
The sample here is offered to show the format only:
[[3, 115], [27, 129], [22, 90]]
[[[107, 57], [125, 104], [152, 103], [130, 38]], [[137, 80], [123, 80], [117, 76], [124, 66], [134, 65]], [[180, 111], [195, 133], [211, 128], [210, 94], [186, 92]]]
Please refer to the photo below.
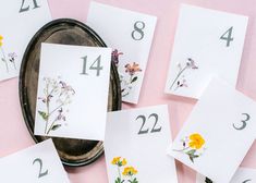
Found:
[[14, 70], [16, 70], [15, 59], [17, 56], [15, 52], [10, 52], [8, 53], [8, 58], [7, 58], [4, 49], [3, 49], [3, 36], [1, 35], [0, 35], [0, 49], [1, 49], [1, 54], [2, 54], [1, 61], [4, 62], [7, 72], [9, 73], [9, 70], [10, 70], [8, 61], [11, 62], [13, 64]]

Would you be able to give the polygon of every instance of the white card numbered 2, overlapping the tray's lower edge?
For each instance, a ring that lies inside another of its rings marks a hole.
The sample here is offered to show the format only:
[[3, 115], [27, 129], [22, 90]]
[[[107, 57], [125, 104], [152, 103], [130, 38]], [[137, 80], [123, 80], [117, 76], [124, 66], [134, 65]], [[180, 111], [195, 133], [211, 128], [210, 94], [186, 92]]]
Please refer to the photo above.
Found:
[[69, 183], [51, 139], [0, 158], [1, 182]]

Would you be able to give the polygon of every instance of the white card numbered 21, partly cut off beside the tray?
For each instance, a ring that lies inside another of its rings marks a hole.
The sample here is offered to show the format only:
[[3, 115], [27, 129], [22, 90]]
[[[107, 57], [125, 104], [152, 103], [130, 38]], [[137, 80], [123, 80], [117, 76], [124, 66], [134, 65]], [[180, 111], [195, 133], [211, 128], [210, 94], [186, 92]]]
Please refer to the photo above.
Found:
[[51, 21], [47, 0], [1, 1], [0, 81], [19, 75], [31, 38]]

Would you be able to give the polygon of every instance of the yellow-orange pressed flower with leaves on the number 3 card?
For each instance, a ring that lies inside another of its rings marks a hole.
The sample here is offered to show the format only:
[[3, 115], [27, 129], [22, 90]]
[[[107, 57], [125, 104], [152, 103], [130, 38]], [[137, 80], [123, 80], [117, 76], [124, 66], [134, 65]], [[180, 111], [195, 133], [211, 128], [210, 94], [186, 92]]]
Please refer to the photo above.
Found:
[[194, 133], [188, 137], [182, 139], [182, 149], [173, 149], [188, 156], [190, 160], [194, 162], [195, 158], [198, 158], [202, 154], [198, 154], [199, 149], [205, 145], [205, 139], [200, 134]]

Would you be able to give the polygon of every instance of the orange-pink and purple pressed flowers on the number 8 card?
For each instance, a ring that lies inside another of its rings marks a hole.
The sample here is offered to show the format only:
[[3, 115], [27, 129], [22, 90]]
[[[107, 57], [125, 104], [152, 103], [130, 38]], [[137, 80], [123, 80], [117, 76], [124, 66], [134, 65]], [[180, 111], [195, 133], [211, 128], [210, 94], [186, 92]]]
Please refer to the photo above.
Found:
[[[119, 57], [122, 56], [123, 52], [119, 52], [117, 49], [112, 51], [112, 62], [119, 68]], [[136, 62], [127, 63], [124, 65], [125, 73], [127, 73], [129, 78], [125, 80], [124, 75], [120, 74], [120, 82], [121, 82], [121, 93], [122, 97], [125, 97], [130, 94], [133, 88], [133, 84], [137, 81], [138, 76], [136, 73], [142, 72], [139, 64]]]

